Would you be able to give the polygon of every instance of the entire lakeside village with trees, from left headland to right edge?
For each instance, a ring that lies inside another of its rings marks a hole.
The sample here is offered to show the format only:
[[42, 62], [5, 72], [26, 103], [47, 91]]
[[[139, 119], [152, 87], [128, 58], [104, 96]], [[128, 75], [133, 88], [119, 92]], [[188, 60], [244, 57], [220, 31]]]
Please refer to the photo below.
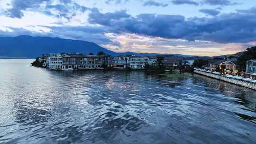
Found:
[[[248, 51], [255, 51], [256, 47]], [[249, 52], [248, 54], [251, 54]], [[245, 57], [245, 58], [241, 58]], [[53, 70], [73, 71], [91, 69], [116, 69], [116, 70], [155, 70], [165, 72], [208, 72], [215, 75], [240, 77], [250, 81], [256, 80], [256, 59], [248, 59], [246, 52], [241, 54], [225, 55], [223, 58], [208, 60], [187, 60], [172, 54], [156, 56], [123, 55], [111, 56], [99, 52], [98, 54], [42, 54], [33, 66], [45, 67]], [[242, 59], [242, 60], [241, 60]], [[243, 61], [243, 62], [241, 62]], [[242, 64], [241, 64], [242, 63]]]

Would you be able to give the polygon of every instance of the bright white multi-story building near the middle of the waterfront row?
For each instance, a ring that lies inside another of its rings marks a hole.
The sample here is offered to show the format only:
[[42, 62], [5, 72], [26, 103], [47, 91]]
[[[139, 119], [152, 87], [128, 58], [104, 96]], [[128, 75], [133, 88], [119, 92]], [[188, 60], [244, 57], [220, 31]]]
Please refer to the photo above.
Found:
[[132, 69], [144, 69], [148, 62], [147, 56], [130, 56], [130, 68]]

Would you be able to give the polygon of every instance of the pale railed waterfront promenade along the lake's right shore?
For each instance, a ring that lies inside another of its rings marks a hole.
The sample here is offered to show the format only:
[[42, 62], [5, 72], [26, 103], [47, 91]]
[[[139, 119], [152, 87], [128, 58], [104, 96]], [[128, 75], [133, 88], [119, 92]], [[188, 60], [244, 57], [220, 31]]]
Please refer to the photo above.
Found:
[[202, 71], [198, 71], [198, 70], [194, 70], [194, 73], [201, 74], [201, 75], [208, 76], [208, 77], [211, 77], [211, 78], [214, 78], [214, 79], [218, 79], [220, 81], [226, 81], [226, 82], [229, 82], [229, 83], [233, 83], [233, 84], [236, 84], [236, 85], [239, 85], [239, 86], [243, 86], [243, 87], [247, 87], [249, 89], [256, 90], [256, 84], [255, 83], [250, 83], [250, 82], [241, 81], [241, 80], [235, 80], [235, 79], [227, 78], [227, 77], [224, 77], [224, 76], [221, 76], [221, 75], [216, 75], [216, 74], [212, 74], [212, 73], [209, 73], [209, 72], [202, 72]]

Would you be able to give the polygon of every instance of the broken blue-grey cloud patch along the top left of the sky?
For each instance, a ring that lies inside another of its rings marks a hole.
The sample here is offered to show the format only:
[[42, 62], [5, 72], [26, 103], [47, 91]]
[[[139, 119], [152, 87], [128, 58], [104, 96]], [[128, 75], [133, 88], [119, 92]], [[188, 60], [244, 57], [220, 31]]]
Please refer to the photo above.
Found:
[[[78, 5], [72, 0], [60, 0], [60, 4], [52, 5], [53, 0], [12, 0], [11, 9], [7, 9], [4, 12], [5, 15], [11, 18], [22, 18], [24, 16], [23, 11], [27, 9], [31, 9], [34, 11], [40, 11], [47, 15], [71, 18], [75, 15], [76, 11], [88, 10], [89, 8]], [[46, 3], [46, 7], [44, 9], [39, 9], [40, 5]], [[51, 9], [57, 11], [57, 15], [51, 12]]]

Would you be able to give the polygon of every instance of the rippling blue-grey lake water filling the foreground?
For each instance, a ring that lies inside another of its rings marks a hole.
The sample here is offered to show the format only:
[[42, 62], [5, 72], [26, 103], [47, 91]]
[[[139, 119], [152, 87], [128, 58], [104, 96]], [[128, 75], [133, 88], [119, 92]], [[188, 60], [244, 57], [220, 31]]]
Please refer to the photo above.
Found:
[[254, 90], [32, 61], [0, 59], [0, 144], [256, 144]]

